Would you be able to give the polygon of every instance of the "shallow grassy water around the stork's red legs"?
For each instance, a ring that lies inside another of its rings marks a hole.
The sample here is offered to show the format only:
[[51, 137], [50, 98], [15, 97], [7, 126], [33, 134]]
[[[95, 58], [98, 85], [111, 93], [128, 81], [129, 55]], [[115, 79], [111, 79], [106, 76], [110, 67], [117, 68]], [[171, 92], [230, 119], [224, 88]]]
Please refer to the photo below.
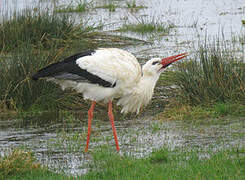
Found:
[[[137, 158], [147, 156], [154, 149], [221, 149], [245, 146], [245, 118], [209, 121], [159, 122], [152, 116], [140, 118], [120, 117], [115, 114], [120, 153]], [[119, 120], [118, 120], [119, 119]], [[50, 169], [79, 175], [88, 171], [90, 153], [86, 145], [87, 117], [80, 114], [46, 113], [23, 118], [0, 119], [0, 150], [2, 155], [10, 149], [23, 147]], [[116, 151], [106, 114], [95, 112], [89, 151], [106, 145]]]

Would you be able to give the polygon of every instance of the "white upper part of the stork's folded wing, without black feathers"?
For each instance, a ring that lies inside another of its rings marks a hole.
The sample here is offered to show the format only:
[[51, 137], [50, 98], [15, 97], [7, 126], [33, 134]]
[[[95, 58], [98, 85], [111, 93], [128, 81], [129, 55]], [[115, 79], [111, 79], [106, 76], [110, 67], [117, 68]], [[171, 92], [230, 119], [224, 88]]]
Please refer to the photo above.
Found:
[[81, 69], [110, 82], [125, 86], [137, 83], [141, 67], [129, 52], [117, 48], [100, 48], [91, 56], [79, 58], [76, 63]]

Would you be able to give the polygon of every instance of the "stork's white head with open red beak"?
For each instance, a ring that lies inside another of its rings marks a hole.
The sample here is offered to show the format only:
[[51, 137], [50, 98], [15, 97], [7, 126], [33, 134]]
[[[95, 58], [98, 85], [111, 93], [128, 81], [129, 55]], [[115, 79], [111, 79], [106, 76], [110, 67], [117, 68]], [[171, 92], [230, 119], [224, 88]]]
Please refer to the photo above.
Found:
[[175, 56], [166, 57], [163, 59], [160, 58], [153, 58], [149, 61], [147, 61], [143, 67], [143, 74], [148, 76], [159, 76], [161, 72], [164, 71], [166, 67], [168, 67], [170, 64], [172, 64], [175, 61], [178, 61], [184, 57], [186, 57], [187, 53], [182, 53]]

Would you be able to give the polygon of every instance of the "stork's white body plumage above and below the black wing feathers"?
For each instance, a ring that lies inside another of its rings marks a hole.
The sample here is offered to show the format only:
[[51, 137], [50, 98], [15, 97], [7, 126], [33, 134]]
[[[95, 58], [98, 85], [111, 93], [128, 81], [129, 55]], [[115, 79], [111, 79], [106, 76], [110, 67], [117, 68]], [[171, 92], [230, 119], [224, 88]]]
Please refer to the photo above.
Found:
[[[101, 87], [98, 84], [78, 83], [74, 89], [83, 93], [85, 99], [108, 102], [114, 98], [128, 96], [141, 78], [141, 68], [130, 53], [116, 49], [98, 49], [92, 56], [79, 58], [76, 63], [82, 69], [102, 79], [116, 83], [115, 87]], [[124, 106], [124, 104], [122, 104]]]

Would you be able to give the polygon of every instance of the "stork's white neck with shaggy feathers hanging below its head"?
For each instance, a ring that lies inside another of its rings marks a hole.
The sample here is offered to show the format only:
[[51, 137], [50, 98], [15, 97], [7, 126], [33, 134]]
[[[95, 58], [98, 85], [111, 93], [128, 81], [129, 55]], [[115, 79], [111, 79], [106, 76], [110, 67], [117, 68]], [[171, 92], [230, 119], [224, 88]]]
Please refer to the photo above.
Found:
[[148, 104], [151, 100], [155, 84], [158, 80], [153, 76], [142, 76], [138, 84], [132, 89], [130, 94], [120, 98], [118, 105], [122, 105], [122, 112], [139, 112], [140, 107]]

